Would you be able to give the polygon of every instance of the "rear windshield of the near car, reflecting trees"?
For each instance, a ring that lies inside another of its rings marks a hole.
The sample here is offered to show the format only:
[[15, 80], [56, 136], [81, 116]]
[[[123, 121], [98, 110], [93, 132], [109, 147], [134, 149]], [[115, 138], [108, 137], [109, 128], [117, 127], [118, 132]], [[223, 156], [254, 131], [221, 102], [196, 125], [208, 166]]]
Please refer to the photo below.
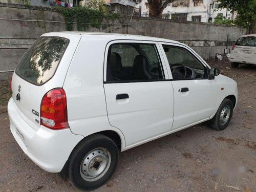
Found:
[[27, 50], [19, 61], [16, 74], [35, 83], [51, 79], [69, 41], [59, 37], [41, 37]]

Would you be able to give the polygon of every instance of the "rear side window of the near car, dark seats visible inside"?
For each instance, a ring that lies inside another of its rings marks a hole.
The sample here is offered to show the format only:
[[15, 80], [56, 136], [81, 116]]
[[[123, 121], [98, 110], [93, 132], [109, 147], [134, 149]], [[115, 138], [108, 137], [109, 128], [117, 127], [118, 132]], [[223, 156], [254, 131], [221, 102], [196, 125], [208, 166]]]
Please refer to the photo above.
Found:
[[109, 48], [106, 81], [147, 81], [163, 79], [154, 44], [113, 44]]

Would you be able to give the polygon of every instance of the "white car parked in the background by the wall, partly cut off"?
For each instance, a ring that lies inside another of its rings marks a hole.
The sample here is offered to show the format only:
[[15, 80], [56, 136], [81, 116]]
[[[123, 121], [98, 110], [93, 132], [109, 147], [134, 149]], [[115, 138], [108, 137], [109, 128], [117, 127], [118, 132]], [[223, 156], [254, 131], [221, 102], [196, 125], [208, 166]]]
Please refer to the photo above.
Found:
[[240, 36], [232, 46], [229, 60], [233, 68], [239, 64], [256, 65], [256, 34]]

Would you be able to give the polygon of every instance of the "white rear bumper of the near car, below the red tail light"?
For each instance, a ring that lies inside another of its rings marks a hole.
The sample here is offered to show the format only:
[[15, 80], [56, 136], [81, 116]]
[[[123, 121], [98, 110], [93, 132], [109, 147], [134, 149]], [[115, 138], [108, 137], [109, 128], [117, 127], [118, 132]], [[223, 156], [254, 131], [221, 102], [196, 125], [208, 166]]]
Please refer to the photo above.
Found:
[[60, 172], [83, 136], [73, 134], [70, 129], [55, 131], [44, 126], [36, 131], [17, 110], [19, 109], [11, 98], [8, 103], [10, 129], [19, 146], [42, 169], [52, 173]]

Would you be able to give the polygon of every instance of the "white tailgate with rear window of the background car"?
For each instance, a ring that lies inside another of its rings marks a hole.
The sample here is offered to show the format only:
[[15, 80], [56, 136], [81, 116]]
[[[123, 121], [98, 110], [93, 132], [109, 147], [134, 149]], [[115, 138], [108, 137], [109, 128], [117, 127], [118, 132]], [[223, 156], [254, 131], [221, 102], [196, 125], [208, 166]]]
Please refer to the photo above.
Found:
[[233, 56], [256, 59], [256, 36], [240, 37], [234, 45]]

